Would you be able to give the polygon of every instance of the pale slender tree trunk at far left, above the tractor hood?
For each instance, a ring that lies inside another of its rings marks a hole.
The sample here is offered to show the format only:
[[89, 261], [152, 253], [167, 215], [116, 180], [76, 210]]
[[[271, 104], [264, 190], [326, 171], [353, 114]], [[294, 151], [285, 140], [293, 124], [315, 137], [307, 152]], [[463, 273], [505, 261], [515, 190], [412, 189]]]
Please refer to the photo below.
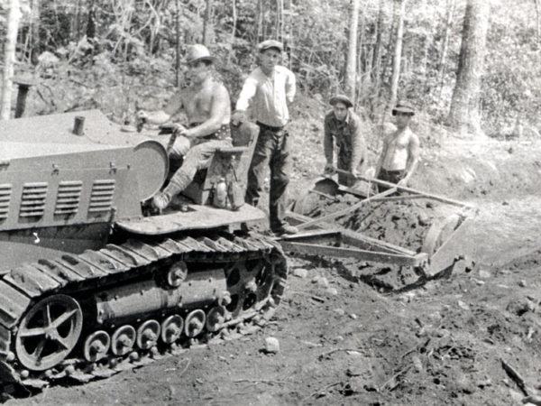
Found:
[[0, 106], [0, 120], [9, 120], [11, 112], [11, 96], [14, 76], [15, 47], [17, 44], [17, 31], [21, 20], [19, 0], [10, 0], [7, 16], [7, 32], [4, 42], [4, 74], [2, 77], [2, 106]]

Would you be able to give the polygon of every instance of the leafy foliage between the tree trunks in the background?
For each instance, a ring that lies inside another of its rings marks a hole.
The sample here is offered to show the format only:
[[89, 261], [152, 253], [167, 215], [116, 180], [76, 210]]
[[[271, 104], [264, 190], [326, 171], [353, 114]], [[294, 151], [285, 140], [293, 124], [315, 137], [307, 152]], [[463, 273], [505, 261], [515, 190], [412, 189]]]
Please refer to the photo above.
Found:
[[[325, 104], [324, 100], [343, 88], [348, 2], [284, 3], [280, 31], [275, 1], [213, 2], [215, 28], [210, 48], [221, 61], [217, 70], [235, 97], [244, 75], [256, 63], [254, 45], [280, 37], [287, 49], [284, 63], [297, 74], [299, 88], [307, 95], [321, 95]], [[405, 15], [399, 97], [410, 99], [435, 123], [443, 122], [447, 115], [460, 51], [465, 0], [454, 3], [443, 65], [445, 16], [451, 1], [408, 0]], [[528, 0], [519, 0], [512, 7], [504, 0], [491, 4], [481, 88], [483, 128], [488, 134], [507, 134], [519, 121], [535, 130], [540, 125], [536, 106], [541, 97], [535, 5]], [[189, 43], [202, 41], [206, 1], [27, 0], [23, 6], [30, 11], [24, 14], [19, 30], [18, 60], [42, 75], [43, 87], [57, 89], [60, 83], [69, 83], [66, 93], [72, 95], [62, 95], [62, 102], [53, 101], [60, 95], [38, 87], [44, 106], [36, 112], [97, 106], [111, 109], [121, 120], [133, 110], [135, 100], [160, 105], [170, 96], [177, 76], [182, 78], [182, 66], [176, 69], [177, 53], [183, 54]], [[0, 7], [5, 12], [5, 5]], [[37, 10], [36, 19], [32, 15]], [[371, 117], [388, 97], [394, 12], [394, 0], [362, 2], [357, 102]], [[0, 32], [5, 32], [1, 15]], [[45, 52], [59, 61], [44, 62]]]

